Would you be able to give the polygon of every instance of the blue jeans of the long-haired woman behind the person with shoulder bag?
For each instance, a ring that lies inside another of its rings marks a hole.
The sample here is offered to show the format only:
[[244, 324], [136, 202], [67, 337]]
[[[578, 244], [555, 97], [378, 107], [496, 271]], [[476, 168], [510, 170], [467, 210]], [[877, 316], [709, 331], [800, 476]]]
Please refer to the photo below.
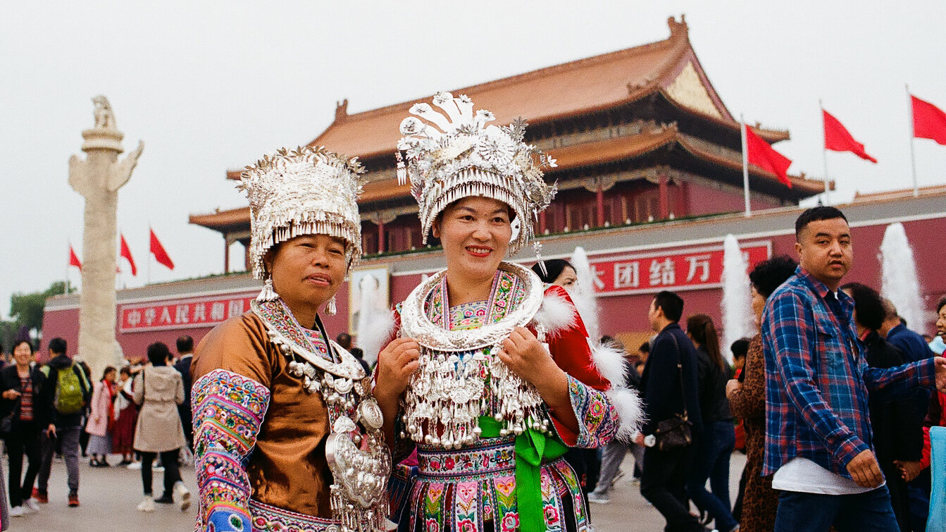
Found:
[[[716, 528], [727, 532], [736, 527], [729, 505], [729, 457], [736, 445], [732, 421], [709, 423], [696, 440], [696, 457], [687, 478], [687, 493], [696, 507], [706, 510], [716, 520]], [[710, 489], [707, 491], [707, 479]]]

